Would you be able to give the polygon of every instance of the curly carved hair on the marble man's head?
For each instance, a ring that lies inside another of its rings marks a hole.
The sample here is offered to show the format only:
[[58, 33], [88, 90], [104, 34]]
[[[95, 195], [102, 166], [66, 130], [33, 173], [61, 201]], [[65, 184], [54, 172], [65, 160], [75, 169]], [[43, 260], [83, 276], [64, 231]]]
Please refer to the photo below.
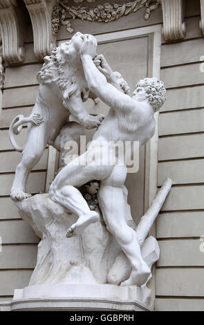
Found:
[[137, 87], [142, 87], [147, 93], [149, 104], [154, 108], [154, 111], [158, 111], [166, 100], [166, 89], [164, 83], [157, 78], [145, 78], [136, 84]]

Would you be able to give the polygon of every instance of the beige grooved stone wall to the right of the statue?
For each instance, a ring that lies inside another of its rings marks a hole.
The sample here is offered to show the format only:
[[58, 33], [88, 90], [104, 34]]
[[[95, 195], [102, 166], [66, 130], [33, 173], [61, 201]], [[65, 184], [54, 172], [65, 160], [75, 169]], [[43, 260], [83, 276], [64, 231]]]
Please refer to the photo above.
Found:
[[176, 44], [163, 40], [161, 47], [167, 102], [159, 118], [158, 187], [166, 176], [174, 185], [156, 222], [156, 310], [204, 309], [204, 253], [199, 249], [204, 225], [204, 74], [199, 60], [204, 39], [198, 5], [187, 6], [185, 39]]

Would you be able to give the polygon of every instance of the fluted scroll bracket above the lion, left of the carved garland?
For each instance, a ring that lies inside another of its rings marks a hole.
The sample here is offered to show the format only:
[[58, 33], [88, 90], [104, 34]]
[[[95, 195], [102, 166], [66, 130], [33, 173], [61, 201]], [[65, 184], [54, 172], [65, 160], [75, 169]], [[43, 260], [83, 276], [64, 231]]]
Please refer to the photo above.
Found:
[[42, 60], [55, 47], [51, 16], [56, 0], [24, 0], [33, 26], [34, 52]]

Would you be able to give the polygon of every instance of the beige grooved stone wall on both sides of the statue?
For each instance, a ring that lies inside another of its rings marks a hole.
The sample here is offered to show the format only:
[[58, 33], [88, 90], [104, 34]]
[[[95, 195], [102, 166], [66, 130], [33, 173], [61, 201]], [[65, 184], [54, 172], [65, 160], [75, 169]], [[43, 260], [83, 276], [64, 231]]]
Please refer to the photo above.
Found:
[[[203, 53], [203, 36], [199, 29], [199, 1], [186, 1], [187, 34], [180, 42], [161, 45], [160, 78], [167, 87], [167, 102], [159, 117], [158, 187], [168, 176], [174, 186], [156, 223], [160, 260], [156, 267], [156, 310], [203, 310], [202, 281], [204, 253], [199, 241], [203, 235], [203, 115], [204, 74], [199, 67]], [[162, 24], [160, 8], [144, 20], [145, 10], [108, 24], [72, 21], [72, 28], [93, 35]], [[59, 30], [58, 40], [71, 37], [66, 27]], [[15, 167], [21, 154], [8, 139], [8, 127], [18, 114], [28, 116], [37, 95], [36, 73], [41, 64], [33, 53], [33, 35], [26, 30], [26, 59], [16, 67], [7, 67], [0, 116], [0, 300], [12, 297], [15, 288], [28, 284], [36, 261], [39, 239], [22, 221], [9, 198]], [[90, 111], [91, 113], [91, 111]], [[18, 137], [24, 143], [26, 128]], [[48, 149], [30, 174], [28, 189], [44, 191]], [[30, 184], [30, 185], [29, 185]], [[131, 193], [133, 197], [133, 193]], [[142, 203], [143, 206], [143, 203]], [[142, 207], [143, 209], [143, 207]], [[134, 213], [134, 212], [133, 212]], [[141, 210], [142, 214], [142, 210]], [[154, 286], [154, 281], [153, 281]]]

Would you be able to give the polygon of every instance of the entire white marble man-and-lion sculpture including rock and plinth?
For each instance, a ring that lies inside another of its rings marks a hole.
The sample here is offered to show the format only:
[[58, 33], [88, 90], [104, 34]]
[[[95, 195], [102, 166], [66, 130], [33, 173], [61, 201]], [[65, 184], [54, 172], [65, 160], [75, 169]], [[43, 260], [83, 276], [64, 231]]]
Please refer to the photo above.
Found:
[[[136, 227], [124, 187], [130, 153], [127, 150], [120, 157], [115, 145], [129, 141], [141, 146], [154, 136], [154, 113], [165, 102], [165, 87], [154, 77], [145, 78], [136, 85], [133, 97], [129, 97], [127, 82], [120, 73], [111, 70], [103, 55], [96, 55], [96, 48], [95, 37], [77, 32], [71, 41], [55, 48], [51, 57], [45, 57], [38, 74], [39, 95], [33, 113], [29, 118], [18, 116], [10, 127], [12, 144], [22, 151], [13, 135], [21, 131], [24, 122], [29, 124], [11, 197], [22, 219], [41, 238], [30, 283], [24, 289], [15, 290], [12, 304], [21, 299], [91, 297], [103, 301], [119, 299], [120, 304], [138, 301], [150, 308], [151, 290], [147, 282], [160, 250], [156, 239], [147, 238], [147, 234], [172, 182], [165, 181]], [[68, 75], [64, 66], [69, 69]], [[50, 94], [52, 87], [58, 87], [59, 97], [54, 92]], [[93, 117], [84, 111], [82, 100], [88, 97], [100, 97], [110, 106], [106, 118], [101, 114]], [[56, 106], [59, 99], [68, 113], [61, 108], [48, 117], [50, 100]], [[69, 113], [81, 125], [69, 122], [62, 127]], [[78, 143], [83, 127], [95, 126], [98, 129], [89, 149], [68, 165], [62, 162], [48, 194], [33, 197], [26, 194], [28, 171], [46, 143], [57, 147], [63, 160], [66, 141]], [[57, 128], [59, 133], [55, 137]], [[31, 147], [30, 141], [37, 146]], [[89, 154], [94, 157], [91, 162]], [[88, 194], [84, 195], [83, 187]]]

